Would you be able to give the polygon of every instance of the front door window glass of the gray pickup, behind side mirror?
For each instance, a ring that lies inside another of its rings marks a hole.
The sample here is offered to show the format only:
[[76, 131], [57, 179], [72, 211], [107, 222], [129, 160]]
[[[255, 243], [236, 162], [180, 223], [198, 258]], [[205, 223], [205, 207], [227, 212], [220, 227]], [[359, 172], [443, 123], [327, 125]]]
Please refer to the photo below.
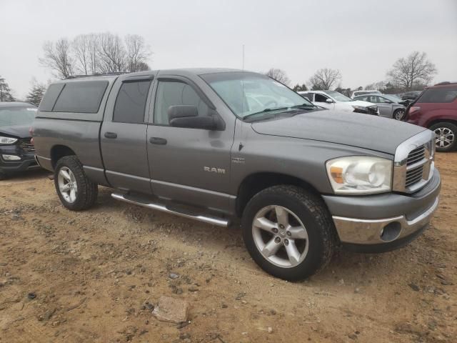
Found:
[[194, 105], [199, 116], [207, 116], [209, 107], [194, 89], [181, 81], [159, 81], [154, 105], [154, 124], [169, 125], [169, 107]]

